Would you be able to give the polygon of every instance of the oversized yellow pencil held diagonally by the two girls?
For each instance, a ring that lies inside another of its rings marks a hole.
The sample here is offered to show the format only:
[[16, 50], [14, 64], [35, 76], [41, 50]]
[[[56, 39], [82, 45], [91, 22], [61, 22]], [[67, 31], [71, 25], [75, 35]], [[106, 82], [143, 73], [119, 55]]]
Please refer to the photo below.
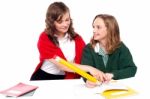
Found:
[[77, 66], [75, 66], [74, 64], [60, 58], [59, 56], [55, 56], [54, 58], [57, 62], [59, 62], [60, 64], [63, 64], [65, 66], [67, 66], [68, 68], [70, 68], [71, 70], [73, 70], [74, 72], [76, 72], [77, 74], [81, 75], [82, 77], [88, 79], [89, 81], [95, 82], [97, 84], [100, 84], [100, 82], [93, 76], [91, 76], [90, 74], [86, 73], [85, 71], [81, 70], [80, 68], [78, 68]]

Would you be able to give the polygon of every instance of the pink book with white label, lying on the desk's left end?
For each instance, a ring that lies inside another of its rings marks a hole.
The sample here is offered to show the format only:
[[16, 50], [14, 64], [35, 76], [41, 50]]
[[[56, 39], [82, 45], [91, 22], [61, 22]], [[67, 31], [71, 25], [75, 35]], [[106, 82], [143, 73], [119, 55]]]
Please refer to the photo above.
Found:
[[0, 94], [11, 97], [19, 97], [25, 94], [31, 94], [38, 86], [28, 85], [24, 83], [18, 83], [6, 90], [0, 91]]

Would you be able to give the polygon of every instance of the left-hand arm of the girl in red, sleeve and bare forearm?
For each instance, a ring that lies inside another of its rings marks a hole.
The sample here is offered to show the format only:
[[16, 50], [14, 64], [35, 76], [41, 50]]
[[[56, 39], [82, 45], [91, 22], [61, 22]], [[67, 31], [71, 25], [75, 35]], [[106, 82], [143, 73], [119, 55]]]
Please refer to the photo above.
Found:
[[60, 70], [73, 72], [68, 69], [66, 66], [61, 65], [60, 63], [56, 62], [53, 57], [55, 55], [59, 55], [63, 57], [63, 53], [61, 52], [60, 48], [58, 48], [47, 36], [45, 32], [43, 32], [38, 40], [38, 50], [40, 53], [40, 60], [49, 60], [51, 63], [55, 64]]

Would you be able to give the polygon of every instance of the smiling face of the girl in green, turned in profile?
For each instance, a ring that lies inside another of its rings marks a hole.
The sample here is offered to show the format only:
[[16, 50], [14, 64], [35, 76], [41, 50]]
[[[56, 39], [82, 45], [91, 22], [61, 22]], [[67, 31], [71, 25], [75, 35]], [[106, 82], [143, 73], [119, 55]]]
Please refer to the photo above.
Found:
[[93, 22], [93, 38], [101, 42], [106, 40], [107, 28], [102, 18], [96, 18]]

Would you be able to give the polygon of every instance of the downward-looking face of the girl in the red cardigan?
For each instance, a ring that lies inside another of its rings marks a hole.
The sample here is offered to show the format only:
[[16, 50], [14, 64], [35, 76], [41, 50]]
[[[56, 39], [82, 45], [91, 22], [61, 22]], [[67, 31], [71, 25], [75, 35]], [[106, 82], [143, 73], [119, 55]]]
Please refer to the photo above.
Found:
[[56, 34], [58, 36], [64, 36], [65, 33], [68, 31], [70, 26], [70, 14], [69, 12], [65, 13], [61, 20], [54, 21], [55, 28], [57, 30]]

